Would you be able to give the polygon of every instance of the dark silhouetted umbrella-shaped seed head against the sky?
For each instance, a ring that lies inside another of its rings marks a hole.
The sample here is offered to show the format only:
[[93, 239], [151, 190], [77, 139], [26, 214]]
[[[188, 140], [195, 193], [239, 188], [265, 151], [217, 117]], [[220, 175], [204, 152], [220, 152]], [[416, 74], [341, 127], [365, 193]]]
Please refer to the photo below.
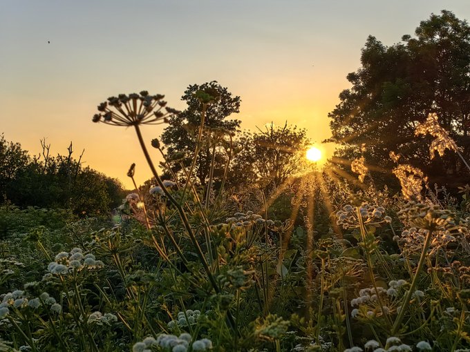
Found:
[[103, 122], [113, 126], [138, 126], [140, 124], [162, 124], [171, 115], [180, 113], [167, 107], [162, 100], [164, 95], [149, 95], [147, 90], [140, 94], [120, 94], [109, 97], [97, 109], [100, 113], [93, 116], [93, 122]]

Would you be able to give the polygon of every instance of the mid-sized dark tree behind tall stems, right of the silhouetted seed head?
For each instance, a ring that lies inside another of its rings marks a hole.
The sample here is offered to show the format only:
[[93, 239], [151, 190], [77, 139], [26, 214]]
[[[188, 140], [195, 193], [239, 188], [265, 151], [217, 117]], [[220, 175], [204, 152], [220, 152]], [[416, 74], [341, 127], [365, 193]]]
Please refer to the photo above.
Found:
[[[187, 88], [185, 94], [181, 97], [183, 101], [187, 102], [187, 109], [169, 119], [169, 126], [164, 129], [161, 137], [162, 142], [167, 148], [167, 156], [181, 152], [187, 155], [182, 160], [182, 164], [185, 167], [189, 167], [191, 164], [196, 148], [197, 131], [201, 123], [203, 103], [196, 95], [198, 91], [206, 92], [215, 98], [214, 102], [207, 104], [207, 110], [205, 111], [205, 135], [195, 170], [195, 175], [200, 184], [206, 186], [214, 153], [214, 161], [216, 163], [214, 177], [216, 179], [220, 178], [220, 175], [223, 174], [223, 168], [227, 162], [227, 156], [223, 150], [220, 150], [220, 146], [214, 148], [214, 144], [210, 140], [211, 135], [213, 135], [211, 131], [215, 131], [217, 134], [224, 131], [233, 133], [238, 130], [241, 121], [227, 119], [227, 117], [239, 112], [241, 100], [238, 96], [232, 97], [232, 93], [227, 88], [220, 86], [216, 81], [201, 85], [194, 84]], [[173, 165], [172, 170], [179, 177], [184, 178], [179, 164]]]

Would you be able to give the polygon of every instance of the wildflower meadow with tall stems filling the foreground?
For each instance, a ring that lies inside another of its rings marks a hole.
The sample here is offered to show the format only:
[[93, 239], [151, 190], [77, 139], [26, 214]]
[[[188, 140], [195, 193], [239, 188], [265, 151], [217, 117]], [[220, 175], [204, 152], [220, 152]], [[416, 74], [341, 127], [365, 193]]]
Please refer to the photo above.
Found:
[[[400, 188], [379, 186], [364, 155], [339, 177], [302, 149], [283, 183], [229, 188], [241, 151], [205, 128], [217, 98], [191, 97], [189, 157], [142, 138], [180, 114], [161, 95], [100, 104], [93, 121], [135, 130], [153, 172], [113, 217], [1, 206], [0, 351], [470, 351], [470, 186], [430, 185], [393, 150]], [[466, 164], [437, 115], [415, 133]], [[202, 185], [208, 149], [225, 166]]]

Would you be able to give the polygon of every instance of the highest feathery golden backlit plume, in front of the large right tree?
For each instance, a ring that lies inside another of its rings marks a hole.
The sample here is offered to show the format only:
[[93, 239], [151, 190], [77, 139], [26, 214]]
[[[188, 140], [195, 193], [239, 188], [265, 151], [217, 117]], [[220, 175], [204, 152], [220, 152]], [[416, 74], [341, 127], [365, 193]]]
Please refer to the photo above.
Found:
[[455, 153], [458, 153], [460, 150], [455, 144], [455, 141], [449, 136], [442, 126], [440, 126], [438, 121], [438, 115], [436, 113], [431, 113], [428, 115], [426, 121], [422, 124], [419, 124], [415, 128], [415, 135], [431, 135], [434, 137], [429, 146], [429, 155], [431, 159], [435, 157], [435, 152], [437, 151], [442, 157], [446, 149], [452, 150]]

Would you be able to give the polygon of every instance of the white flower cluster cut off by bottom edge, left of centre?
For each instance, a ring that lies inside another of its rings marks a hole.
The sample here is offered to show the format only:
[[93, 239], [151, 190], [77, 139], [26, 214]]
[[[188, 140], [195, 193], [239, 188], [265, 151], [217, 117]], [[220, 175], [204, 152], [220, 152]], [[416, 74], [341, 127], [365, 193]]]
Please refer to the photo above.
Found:
[[[149, 337], [142, 342], [137, 342], [133, 345], [132, 352], [151, 352], [152, 346], [159, 346], [163, 351], [187, 352], [191, 340], [189, 333], [182, 333], [179, 337], [163, 333], [158, 335], [157, 339]], [[206, 338], [196, 340], [192, 343], [191, 349], [192, 351], [208, 351], [212, 349], [212, 341]]]

